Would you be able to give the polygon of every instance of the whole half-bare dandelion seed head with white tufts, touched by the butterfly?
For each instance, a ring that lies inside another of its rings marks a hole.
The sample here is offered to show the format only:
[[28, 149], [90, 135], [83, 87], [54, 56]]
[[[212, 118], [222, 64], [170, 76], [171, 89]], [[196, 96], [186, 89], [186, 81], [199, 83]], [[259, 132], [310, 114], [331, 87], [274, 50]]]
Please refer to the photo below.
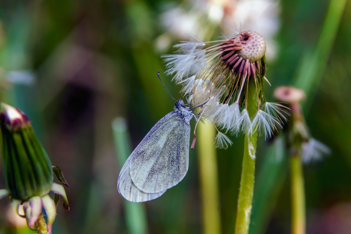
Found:
[[[263, 36], [244, 31], [231, 39], [195, 40], [176, 45], [179, 54], [163, 58], [167, 73], [183, 85], [182, 92], [192, 94], [189, 101], [194, 106], [204, 104], [198, 109], [202, 118], [234, 134], [260, 131], [268, 136], [281, 127], [287, 120], [285, 107], [267, 102], [261, 105], [266, 51]], [[248, 89], [252, 79], [256, 91]], [[256, 92], [256, 117], [246, 109], [248, 92]]]

